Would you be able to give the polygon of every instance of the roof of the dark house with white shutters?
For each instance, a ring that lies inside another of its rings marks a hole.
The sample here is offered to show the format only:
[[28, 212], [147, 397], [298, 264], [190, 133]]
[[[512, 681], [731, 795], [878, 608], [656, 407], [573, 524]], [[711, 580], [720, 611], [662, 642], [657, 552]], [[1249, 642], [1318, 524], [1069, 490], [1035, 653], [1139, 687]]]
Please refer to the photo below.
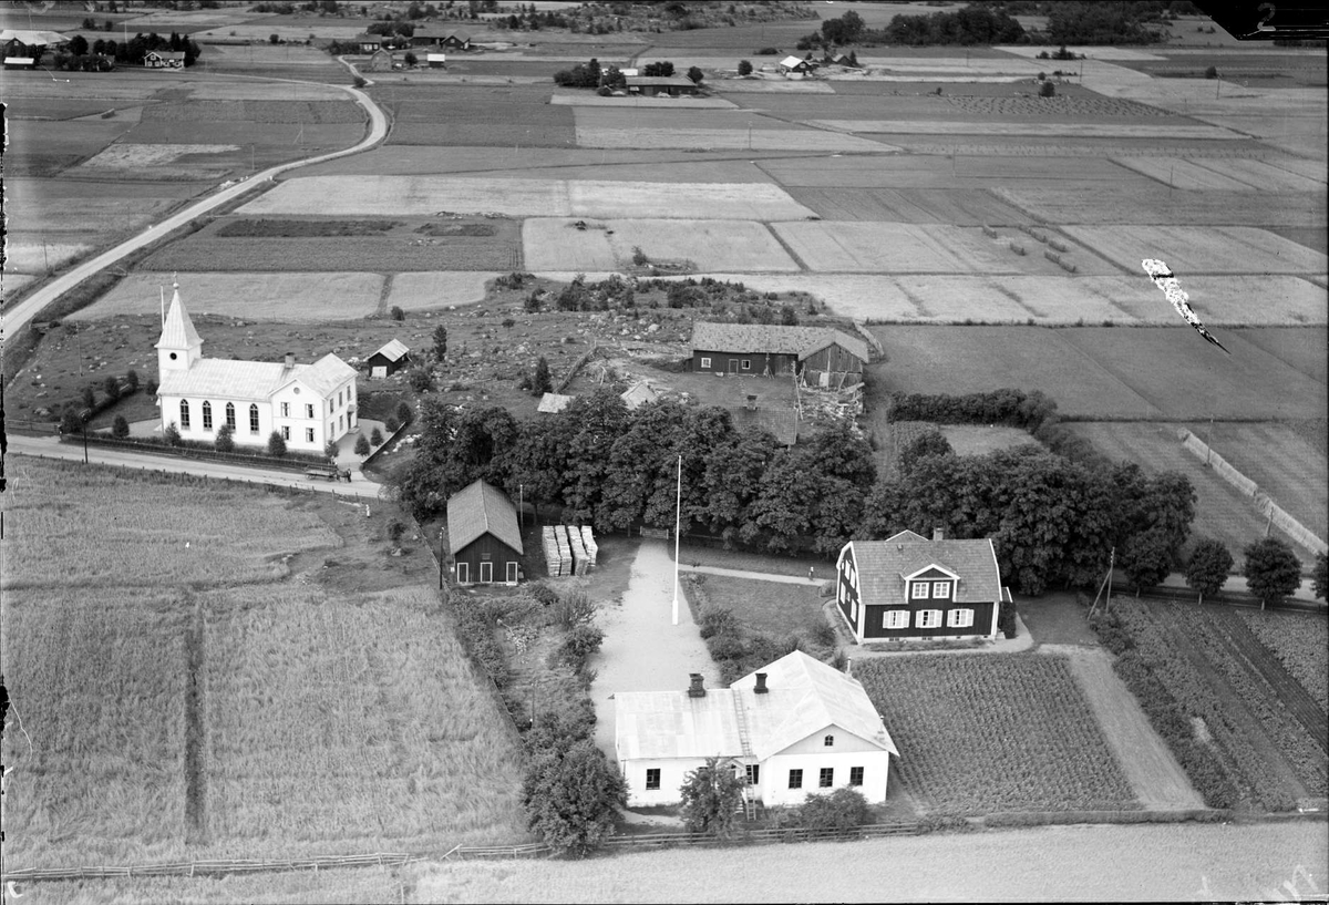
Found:
[[929, 541], [901, 532], [885, 541], [851, 541], [859, 570], [859, 594], [865, 605], [905, 606], [905, 577], [928, 566], [960, 575], [956, 603], [1002, 599], [997, 552], [989, 538]]

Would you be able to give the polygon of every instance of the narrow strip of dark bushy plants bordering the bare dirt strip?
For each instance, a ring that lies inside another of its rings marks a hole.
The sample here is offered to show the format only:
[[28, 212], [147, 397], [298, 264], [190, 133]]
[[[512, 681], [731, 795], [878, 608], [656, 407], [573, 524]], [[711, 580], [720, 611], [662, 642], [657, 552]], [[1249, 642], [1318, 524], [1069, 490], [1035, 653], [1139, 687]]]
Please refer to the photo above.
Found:
[[1232, 808], [1239, 799], [1236, 785], [1223, 769], [1217, 756], [1195, 738], [1189, 716], [1150, 662], [1135, 650], [1135, 639], [1122, 625], [1120, 618], [1115, 613], [1107, 613], [1092, 617], [1090, 625], [1099, 641], [1116, 654], [1112, 668], [1140, 702], [1150, 724], [1204, 796], [1204, 803], [1211, 808]]

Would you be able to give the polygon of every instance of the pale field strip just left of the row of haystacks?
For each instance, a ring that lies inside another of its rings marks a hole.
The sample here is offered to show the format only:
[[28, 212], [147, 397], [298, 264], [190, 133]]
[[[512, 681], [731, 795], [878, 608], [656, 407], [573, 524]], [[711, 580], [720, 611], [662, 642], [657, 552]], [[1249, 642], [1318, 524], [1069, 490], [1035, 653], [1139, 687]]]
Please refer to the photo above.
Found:
[[1019, 274], [1021, 258], [977, 229], [820, 221], [773, 223], [808, 270], [821, 272]]

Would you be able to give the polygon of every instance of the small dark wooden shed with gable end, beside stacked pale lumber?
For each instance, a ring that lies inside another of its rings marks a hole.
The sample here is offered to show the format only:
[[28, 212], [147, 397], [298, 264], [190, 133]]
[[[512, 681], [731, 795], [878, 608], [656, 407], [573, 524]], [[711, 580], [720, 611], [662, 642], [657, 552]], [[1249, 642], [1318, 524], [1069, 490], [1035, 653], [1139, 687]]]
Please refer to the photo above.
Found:
[[517, 509], [490, 484], [476, 481], [448, 498], [448, 546], [459, 585], [516, 585], [521, 578]]

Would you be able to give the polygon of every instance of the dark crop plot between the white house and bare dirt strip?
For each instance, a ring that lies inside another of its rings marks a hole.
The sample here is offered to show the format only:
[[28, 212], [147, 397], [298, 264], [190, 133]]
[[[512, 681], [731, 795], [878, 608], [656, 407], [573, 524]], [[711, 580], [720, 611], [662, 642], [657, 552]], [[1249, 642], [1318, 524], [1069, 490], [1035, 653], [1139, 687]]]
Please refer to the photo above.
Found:
[[932, 813], [1138, 807], [1065, 658], [882, 656], [855, 678]]

